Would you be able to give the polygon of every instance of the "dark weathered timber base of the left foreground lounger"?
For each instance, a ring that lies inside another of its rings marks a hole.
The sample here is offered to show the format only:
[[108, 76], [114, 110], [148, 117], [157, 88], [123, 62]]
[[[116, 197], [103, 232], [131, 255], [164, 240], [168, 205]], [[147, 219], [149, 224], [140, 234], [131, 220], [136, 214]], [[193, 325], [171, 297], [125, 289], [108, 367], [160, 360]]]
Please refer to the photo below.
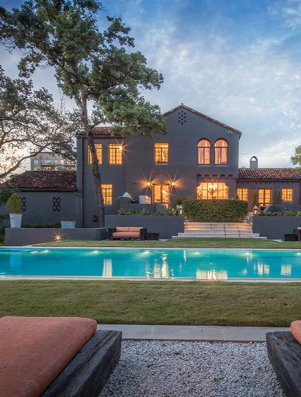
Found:
[[96, 331], [43, 397], [97, 397], [120, 358], [121, 332]]

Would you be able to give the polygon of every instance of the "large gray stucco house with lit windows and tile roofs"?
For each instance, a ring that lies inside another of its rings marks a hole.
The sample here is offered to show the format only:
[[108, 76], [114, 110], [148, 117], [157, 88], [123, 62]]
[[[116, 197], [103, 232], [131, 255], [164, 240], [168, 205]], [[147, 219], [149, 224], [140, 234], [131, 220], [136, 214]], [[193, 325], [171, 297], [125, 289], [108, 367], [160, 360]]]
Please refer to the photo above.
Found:
[[[143, 135], [113, 137], [105, 126], [93, 129], [107, 215], [117, 214], [125, 192], [144, 207], [147, 203], [174, 206], [179, 196], [238, 196], [247, 200], [252, 210], [254, 192], [257, 205], [276, 203], [279, 195], [282, 203], [300, 203], [301, 175], [295, 170], [260, 169], [256, 157], [251, 159], [249, 169], [238, 168], [241, 131], [183, 104], [164, 115], [168, 134], [155, 135], [153, 139]], [[73, 216], [78, 227], [96, 227], [97, 203], [89, 163], [88, 142], [80, 134], [76, 174], [55, 172], [65, 182], [70, 180], [64, 189], [58, 190], [57, 182], [51, 182], [52, 171], [28, 171], [13, 178], [10, 186], [19, 188], [21, 197], [26, 197], [24, 220], [43, 223], [46, 219], [52, 222], [60, 216]], [[8, 183], [0, 185], [4, 186]], [[60, 210], [54, 205], [56, 198], [61, 198]]]

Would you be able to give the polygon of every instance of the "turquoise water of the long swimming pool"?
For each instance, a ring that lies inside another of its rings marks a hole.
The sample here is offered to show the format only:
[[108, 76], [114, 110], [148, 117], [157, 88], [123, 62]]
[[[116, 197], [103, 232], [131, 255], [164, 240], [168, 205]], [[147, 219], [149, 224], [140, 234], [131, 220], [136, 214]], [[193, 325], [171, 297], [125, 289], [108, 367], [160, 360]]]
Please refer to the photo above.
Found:
[[301, 279], [301, 250], [0, 248], [0, 277]]

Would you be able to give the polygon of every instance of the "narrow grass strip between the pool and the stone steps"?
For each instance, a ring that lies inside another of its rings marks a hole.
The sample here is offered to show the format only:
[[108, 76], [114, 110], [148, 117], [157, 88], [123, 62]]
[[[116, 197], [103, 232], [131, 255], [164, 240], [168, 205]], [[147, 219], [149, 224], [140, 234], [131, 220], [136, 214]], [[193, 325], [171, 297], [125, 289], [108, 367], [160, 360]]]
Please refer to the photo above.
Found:
[[131, 241], [131, 240], [64, 240], [48, 242], [47, 246], [57, 247], [181, 247], [181, 248], [301, 248], [301, 242], [277, 242], [256, 238], [183, 238], [167, 241]]

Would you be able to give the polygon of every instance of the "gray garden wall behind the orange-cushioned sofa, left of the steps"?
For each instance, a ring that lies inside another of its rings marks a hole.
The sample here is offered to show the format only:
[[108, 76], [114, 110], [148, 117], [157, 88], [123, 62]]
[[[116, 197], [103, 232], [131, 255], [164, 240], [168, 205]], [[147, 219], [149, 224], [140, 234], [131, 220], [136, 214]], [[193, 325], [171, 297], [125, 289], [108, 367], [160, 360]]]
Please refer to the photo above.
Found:
[[182, 215], [105, 215], [105, 227], [142, 226], [148, 233], [159, 233], [159, 238], [171, 238], [184, 232], [184, 220]]

